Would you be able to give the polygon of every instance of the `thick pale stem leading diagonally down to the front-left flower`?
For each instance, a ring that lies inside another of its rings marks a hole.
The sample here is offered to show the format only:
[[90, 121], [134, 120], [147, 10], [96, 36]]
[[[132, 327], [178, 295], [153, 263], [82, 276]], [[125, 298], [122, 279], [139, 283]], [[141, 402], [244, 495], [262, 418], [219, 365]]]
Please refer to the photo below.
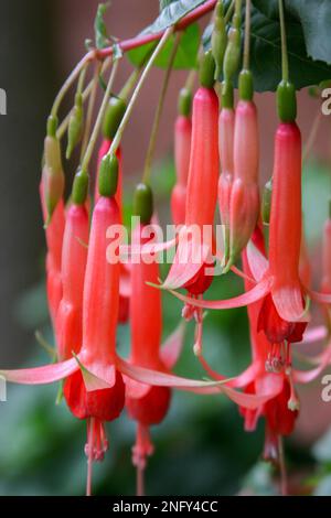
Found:
[[166, 45], [167, 41], [169, 40], [169, 37], [171, 36], [172, 33], [173, 33], [173, 26], [168, 28], [167, 31], [163, 33], [161, 40], [159, 41], [158, 46], [156, 47], [154, 52], [152, 53], [148, 64], [146, 65], [146, 68], [143, 69], [143, 72], [141, 74], [141, 77], [138, 82], [138, 85], [136, 86], [136, 89], [135, 89], [135, 91], [131, 96], [130, 102], [128, 104], [125, 116], [121, 119], [121, 122], [118, 127], [117, 133], [116, 133], [116, 136], [113, 140], [113, 143], [111, 143], [110, 149], [109, 149], [107, 154], [115, 154], [117, 148], [119, 147], [122, 133], [124, 133], [124, 131], [127, 127], [127, 123], [128, 123], [129, 119], [130, 119], [134, 106], [135, 106], [136, 100], [137, 100], [137, 98], [140, 94], [141, 88], [145, 84], [145, 80], [147, 79], [147, 76], [148, 76], [150, 69], [153, 66], [153, 63], [154, 63], [156, 58], [158, 57], [158, 55], [162, 51], [163, 46]]

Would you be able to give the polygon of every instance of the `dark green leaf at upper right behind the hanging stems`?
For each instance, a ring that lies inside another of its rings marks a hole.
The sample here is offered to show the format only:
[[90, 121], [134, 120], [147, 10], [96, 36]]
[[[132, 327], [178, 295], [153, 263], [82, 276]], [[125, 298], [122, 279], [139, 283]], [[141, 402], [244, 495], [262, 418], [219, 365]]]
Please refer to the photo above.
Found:
[[[265, 7], [267, 4], [263, 1], [255, 3], [264, 4], [264, 12], [273, 17], [273, 4]], [[203, 36], [205, 48], [211, 47], [211, 34], [212, 26], [209, 26]], [[307, 55], [302, 26], [293, 17], [287, 18], [287, 42], [290, 79], [297, 89], [331, 77], [331, 67], [327, 63], [313, 61]], [[250, 68], [256, 91], [276, 90], [281, 78], [279, 22], [278, 19], [267, 18], [256, 7], [252, 9]]]

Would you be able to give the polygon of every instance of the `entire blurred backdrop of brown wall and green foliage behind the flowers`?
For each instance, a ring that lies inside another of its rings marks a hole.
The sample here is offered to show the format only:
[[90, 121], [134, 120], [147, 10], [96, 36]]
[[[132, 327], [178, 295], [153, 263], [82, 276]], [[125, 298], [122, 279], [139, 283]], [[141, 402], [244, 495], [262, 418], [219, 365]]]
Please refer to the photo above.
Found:
[[[52, 99], [84, 52], [85, 37], [93, 34], [97, 3], [84, 2], [83, 7], [78, 0], [13, 0], [1, 6], [0, 87], [8, 93], [8, 115], [0, 118], [1, 367], [34, 366], [49, 360], [34, 338], [35, 330], [40, 330], [53, 343], [44, 291], [45, 247], [38, 194], [40, 155]], [[122, 37], [139, 32], [158, 10], [154, 0], [145, 0], [138, 7], [137, 3], [114, 0], [109, 22], [116, 35]], [[126, 15], [128, 9], [132, 17]], [[122, 78], [128, 69], [127, 64]], [[157, 206], [163, 223], [169, 220], [168, 199], [174, 181], [171, 150], [177, 91], [184, 77], [178, 73], [171, 84], [153, 171]], [[142, 94], [125, 139], [127, 216], [143, 163], [161, 80], [159, 71], [151, 80], [154, 88], [147, 88]], [[275, 130], [273, 96], [259, 96], [258, 106], [265, 129], [261, 174], [267, 179], [271, 171]], [[317, 104], [302, 91], [303, 137], [309, 132], [317, 109]], [[319, 236], [330, 196], [329, 140], [330, 123], [323, 121], [317, 147], [319, 160], [311, 161], [305, 171], [305, 220], [316, 280], [320, 269]], [[215, 279], [207, 296], [226, 298], [241, 290], [241, 281], [229, 274]], [[163, 309], [167, 337], [179, 323], [181, 304], [163, 295]], [[128, 327], [120, 327], [118, 343], [124, 355], [129, 342]], [[177, 373], [202, 377], [192, 345], [193, 327], [189, 324]], [[243, 370], [249, 361], [245, 310], [209, 313], [204, 347], [216, 370], [228, 376]], [[72, 418], [64, 403], [54, 404], [56, 392], [56, 386], [8, 388], [8, 402], [0, 403], [0, 495], [84, 494], [85, 423]], [[331, 404], [320, 399], [320, 380], [301, 393], [307, 404], [295, 436], [286, 441], [291, 490], [330, 495], [331, 432], [328, 433], [328, 427]], [[105, 462], [94, 468], [95, 493], [132, 495], [135, 470], [130, 449], [135, 424], [124, 413], [108, 425], [108, 435], [110, 450]], [[147, 470], [147, 494], [270, 495], [278, 490], [275, 471], [260, 462], [263, 422], [255, 433], [245, 433], [237, 408], [225, 398], [175, 392], [167, 420], [153, 429], [152, 438], [156, 453]]]

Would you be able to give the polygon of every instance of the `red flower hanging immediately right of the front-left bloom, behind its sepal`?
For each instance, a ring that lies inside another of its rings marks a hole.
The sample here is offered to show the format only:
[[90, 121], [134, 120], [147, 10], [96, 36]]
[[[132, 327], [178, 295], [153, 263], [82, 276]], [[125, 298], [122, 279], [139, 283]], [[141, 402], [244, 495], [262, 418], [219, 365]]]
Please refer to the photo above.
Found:
[[[149, 187], [146, 186], [146, 190]], [[138, 193], [142, 195], [141, 186]], [[139, 224], [134, 233], [132, 245], [142, 247], [147, 241], [145, 229], [149, 222]], [[159, 279], [157, 260], [139, 261], [131, 266], [132, 299], [130, 303], [131, 353], [130, 364], [149, 369], [168, 373], [175, 364], [183, 343], [183, 326], [173, 334], [168, 344], [161, 346], [162, 305], [161, 292], [148, 285]], [[140, 385], [126, 379], [126, 408], [131, 419], [137, 422], [137, 440], [132, 449], [132, 463], [137, 466], [137, 492], [143, 494], [143, 471], [147, 457], [152, 454], [150, 427], [159, 424], [169, 410], [171, 390], [169, 387]]]

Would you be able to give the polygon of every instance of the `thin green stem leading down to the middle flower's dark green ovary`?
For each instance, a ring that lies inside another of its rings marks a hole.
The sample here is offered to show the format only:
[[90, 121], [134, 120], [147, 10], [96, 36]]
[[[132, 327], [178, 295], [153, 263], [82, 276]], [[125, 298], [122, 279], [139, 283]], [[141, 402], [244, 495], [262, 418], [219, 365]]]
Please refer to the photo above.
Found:
[[160, 128], [160, 121], [161, 121], [161, 116], [162, 116], [162, 111], [163, 111], [166, 94], [167, 94], [168, 86], [169, 86], [169, 79], [170, 79], [170, 75], [171, 75], [171, 72], [172, 72], [173, 62], [174, 62], [177, 51], [178, 51], [178, 47], [179, 47], [179, 44], [180, 44], [180, 41], [181, 41], [181, 35], [182, 35], [181, 32], [179, 32], [175, 35], [173, 48], [172, 48], [172, 52], [171, 52], [171, 55], [170, 55], [170, 58], [169, 58], [169, 63], [168, 63], [168, 66], [167, 66], [167, 71], [166, 71], [166, 75], [164, 75], [164, 79], [163, 79], [163, 84], [162, 84], [162, 89], [161, 89], [159, 102], [158, 102], [158, 106], [157, 106], [153, 127], [152, 127], [152, 131], [151, 131], [151, 136], [150, 136], [150, 141], [149, 141], [149, 145], [148, 145], [148, 150], [147, 150], [145, 168], [143, 168], [143, 175], [142, 175], [142, 183], [148, 183], [148, 181], [150, 179], [151, 164], [152, 164], [153, 155], [154, 155], [154, 151], [156, 151], [157, 138], [158, 138], [158, 132], [159, 132], [159, 128]]

